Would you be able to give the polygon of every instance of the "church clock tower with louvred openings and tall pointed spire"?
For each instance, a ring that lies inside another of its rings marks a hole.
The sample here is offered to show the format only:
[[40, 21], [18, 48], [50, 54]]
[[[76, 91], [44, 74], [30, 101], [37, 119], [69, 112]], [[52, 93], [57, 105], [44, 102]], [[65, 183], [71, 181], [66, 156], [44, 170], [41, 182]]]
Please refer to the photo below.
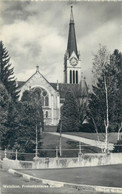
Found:
[[80, 55], [77, 51], [75, 24], [71, 6], [67, 50], [64, 55], [64, 83], [78, 84], [81, 76]]

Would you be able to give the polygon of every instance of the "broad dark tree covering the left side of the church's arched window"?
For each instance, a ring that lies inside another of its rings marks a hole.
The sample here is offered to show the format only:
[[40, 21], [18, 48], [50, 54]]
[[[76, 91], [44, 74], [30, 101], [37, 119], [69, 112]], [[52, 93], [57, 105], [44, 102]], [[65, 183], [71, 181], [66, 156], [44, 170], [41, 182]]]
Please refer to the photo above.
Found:
[[[34, 152], [38, 128], [38, 142], [40, 141], [40, 127], [44, 130], [43, 111], [39, 90], [25, 91], [22, 99], [16, 104], [11, 101], [8, 107], [6, 122], [7, 132], [2, 140], [2, 148], [18, 150], [19, 152]], [[39, 142], [39, 146], [41, 142]]]

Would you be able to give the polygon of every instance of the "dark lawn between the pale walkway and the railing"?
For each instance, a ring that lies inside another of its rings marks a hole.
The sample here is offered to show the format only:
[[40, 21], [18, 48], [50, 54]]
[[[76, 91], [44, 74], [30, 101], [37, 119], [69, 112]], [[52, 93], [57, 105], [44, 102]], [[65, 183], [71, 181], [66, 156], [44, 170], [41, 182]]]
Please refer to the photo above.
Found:
[[[59, 141], [60, 141], [59, 136], [44, 133], [43, 139], [42, 139], [42, 149], [40, 153], [42, 153], [44, 156], [55, 157], [56, 156], [56, 146], [59, 148]], [[78, 156], [79, 142], [69, 140], [69, 139], [62, 137], [61, 143], [62, 143], [63, 157], [77, 157]], [[91, 146], [87, 147], [86, 144], [82, 144], [82, 152], [84, 153], [94, 153], [94, 152], [99, 152], [99, 151], [100, 151], [99, 148], [95, 148]]]

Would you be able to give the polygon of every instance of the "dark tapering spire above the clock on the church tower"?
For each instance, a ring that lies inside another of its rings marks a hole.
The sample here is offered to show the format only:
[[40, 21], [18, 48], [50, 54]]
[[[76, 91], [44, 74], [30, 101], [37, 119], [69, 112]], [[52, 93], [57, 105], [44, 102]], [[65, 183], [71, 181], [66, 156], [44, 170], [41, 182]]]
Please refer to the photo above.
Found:
[[67, 52], [68, 52], [69, 57], [71, 56], [73, 51], [75, 52], [76, 56], [79, 58], [78, 51], [77, 51], [76, 35], [75, 35], [75, 23], [74, 23], [74, 17], [73, 17], [73, 7], [71, 6], [69, 35], [68, 35], [68, 44], [67, 44]]

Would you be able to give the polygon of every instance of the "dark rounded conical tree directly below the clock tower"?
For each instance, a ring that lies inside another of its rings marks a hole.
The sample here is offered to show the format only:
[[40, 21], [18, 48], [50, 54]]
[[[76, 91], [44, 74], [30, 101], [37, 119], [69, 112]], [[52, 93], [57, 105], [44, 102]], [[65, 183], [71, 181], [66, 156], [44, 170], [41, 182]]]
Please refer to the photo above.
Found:
[[64, 105], [61, 108], [61, 123], [63, 132], [79, 130], [79, 113], [72, 92], [66, 93]]

